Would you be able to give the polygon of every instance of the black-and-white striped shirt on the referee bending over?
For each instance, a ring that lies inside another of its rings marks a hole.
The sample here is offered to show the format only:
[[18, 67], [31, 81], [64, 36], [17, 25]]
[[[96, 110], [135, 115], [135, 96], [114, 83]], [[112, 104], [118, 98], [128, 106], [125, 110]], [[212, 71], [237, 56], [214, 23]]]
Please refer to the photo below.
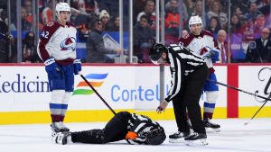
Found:
[[171, 88], [165, 98], [166, 102], [173, 100], [173, 97], [181, 90], [182, 80], [190, 76], [193, 71], [206, 66], [203, 58], [190, 49], [172, 44], [168, 47], [168, 59], [172, 73]]

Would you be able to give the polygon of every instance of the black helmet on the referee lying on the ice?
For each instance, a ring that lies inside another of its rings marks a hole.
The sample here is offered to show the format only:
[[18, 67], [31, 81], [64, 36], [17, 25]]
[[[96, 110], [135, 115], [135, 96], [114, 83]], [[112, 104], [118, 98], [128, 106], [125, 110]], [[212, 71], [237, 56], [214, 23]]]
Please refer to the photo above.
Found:
[[160, 145], [166, 139], [164, 129], [154, 129], [147, 132], [145, 142], [148, 145]]

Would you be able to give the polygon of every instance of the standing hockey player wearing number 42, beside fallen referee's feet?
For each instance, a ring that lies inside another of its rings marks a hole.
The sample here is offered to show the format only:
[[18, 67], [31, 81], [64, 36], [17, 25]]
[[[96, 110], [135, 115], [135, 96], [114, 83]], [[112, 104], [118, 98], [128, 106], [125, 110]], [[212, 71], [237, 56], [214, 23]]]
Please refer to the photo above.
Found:
[[56, 22], [47, 23], [38, 45], [39, 57], [44, 61], [51, 90], [51, 135], [69, 131], [63, 124], [68, 102], [73, 92], [74, 75], [81, 70], [76, 55], [76, 28], [69, 22], [70, 5], [56, 4]]

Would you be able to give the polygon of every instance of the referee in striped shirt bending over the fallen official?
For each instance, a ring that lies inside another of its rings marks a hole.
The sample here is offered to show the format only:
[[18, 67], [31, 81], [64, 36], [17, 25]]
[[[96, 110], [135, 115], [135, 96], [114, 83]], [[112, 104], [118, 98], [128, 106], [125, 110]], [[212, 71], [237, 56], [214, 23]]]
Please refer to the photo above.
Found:
[[[208, 53], [206, 58], [210, 58], [210, 52]], [[201, 106], [199, 104], [202, 86], [208, 76], [208, 67], [204, 59], [194, 54], [190, 49], [178, 45], [166, 48], [160, 43], [154, 44], [149, 56], [154, 64], [170, 64], [172, 85], [164, 102], [157, 108], [157, 112], [163, 112], [167, 104], [173, 101], [175, 120], [180, 126], [178, 126], [178, 133], [171, 136], [178, 135], [175, 138], [182, 140], [184, 138], [187, 144], [200, 141], [201, 145], [207, 145], [207, 136], [203, 121], [201, 121]], [[192, 134], [187, 122], [186, 109], [194, 130]]]

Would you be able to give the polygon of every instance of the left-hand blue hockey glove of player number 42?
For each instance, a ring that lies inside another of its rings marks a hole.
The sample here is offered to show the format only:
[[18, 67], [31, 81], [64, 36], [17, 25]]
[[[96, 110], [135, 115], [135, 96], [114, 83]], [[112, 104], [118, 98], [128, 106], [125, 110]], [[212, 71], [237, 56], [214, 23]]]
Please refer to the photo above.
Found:
[[55, 63], [54, 58], [48, 58], [44, 62], [45, 64], [45, 71], [47, 72], [48, 76], [58, 77], [60, 76], [60, 67], [57, 63]]

